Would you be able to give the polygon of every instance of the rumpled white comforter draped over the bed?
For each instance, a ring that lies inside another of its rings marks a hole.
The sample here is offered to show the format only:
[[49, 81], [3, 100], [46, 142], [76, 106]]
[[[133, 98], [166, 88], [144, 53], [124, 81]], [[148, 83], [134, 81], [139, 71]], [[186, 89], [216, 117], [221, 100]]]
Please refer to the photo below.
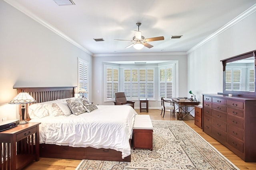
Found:
[[130, 106], [97, 106], [80, 115], [46, 116], [41, 122], [39, 142], [70, 147], [114, 149], [122, 158], [131, 154], [129, 139], [136, 111]]

